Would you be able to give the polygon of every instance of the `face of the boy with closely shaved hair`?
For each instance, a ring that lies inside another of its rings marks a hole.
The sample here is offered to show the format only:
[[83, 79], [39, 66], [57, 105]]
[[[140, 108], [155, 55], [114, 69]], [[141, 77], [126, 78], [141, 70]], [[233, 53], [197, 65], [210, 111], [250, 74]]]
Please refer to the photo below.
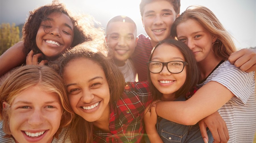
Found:
[[106, 42], [113, 50], [114, 60], [125, 62], [134, 52], [138, 38], [133, 23], [112, 22], [106, 29]]

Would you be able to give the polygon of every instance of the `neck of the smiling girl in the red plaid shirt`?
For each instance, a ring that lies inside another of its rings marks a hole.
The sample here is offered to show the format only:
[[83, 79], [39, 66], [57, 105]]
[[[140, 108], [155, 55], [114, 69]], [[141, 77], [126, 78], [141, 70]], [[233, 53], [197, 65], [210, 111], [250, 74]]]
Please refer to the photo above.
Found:
[[104, 113], [100, 117], [99, 120], [94, 121], [92, 124], [103, 131], [110, 133], [109, 129], [109, 116], [110, 116], [110, 106], [108, 105], [107, 108], [104, 110]]

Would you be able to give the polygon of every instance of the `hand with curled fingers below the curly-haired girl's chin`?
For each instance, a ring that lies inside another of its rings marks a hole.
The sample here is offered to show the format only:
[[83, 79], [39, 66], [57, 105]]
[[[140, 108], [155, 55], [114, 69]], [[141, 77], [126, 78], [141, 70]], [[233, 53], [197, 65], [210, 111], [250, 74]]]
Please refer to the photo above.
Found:
[[26, 57], [26, 64], [42, 66], [49, 62], [48, 60], [42, 60], [40, 63], [38, 63], [38, 58], [40, 57], [43, 57], [42, 53], [38, 53], [34, 55], [34, 51], [31, 50]]

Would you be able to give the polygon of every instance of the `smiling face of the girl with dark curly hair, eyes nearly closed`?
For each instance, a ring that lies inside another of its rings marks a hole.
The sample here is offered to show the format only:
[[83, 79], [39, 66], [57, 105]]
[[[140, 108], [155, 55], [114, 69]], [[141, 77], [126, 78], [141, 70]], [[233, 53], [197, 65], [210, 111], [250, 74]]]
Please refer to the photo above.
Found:
[[53, 12], [42, 21], [36, 34], [36, 45], [48, 58], [56, 58], [71, 47], [74, 25], [66, 14]]

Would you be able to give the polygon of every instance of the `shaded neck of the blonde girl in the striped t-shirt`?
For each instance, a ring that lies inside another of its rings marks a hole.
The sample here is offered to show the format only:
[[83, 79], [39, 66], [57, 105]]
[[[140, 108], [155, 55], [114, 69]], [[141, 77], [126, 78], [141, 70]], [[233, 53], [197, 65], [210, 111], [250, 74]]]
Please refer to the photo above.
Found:
[[206, 59], [198, 62], [201, 78], [205, 79], [208, 77], [208, 75], [210, 75], [212, 70], [220, 63], [221, 60], [221, 58], [214, 55], [214, 57], [209, 56]]

